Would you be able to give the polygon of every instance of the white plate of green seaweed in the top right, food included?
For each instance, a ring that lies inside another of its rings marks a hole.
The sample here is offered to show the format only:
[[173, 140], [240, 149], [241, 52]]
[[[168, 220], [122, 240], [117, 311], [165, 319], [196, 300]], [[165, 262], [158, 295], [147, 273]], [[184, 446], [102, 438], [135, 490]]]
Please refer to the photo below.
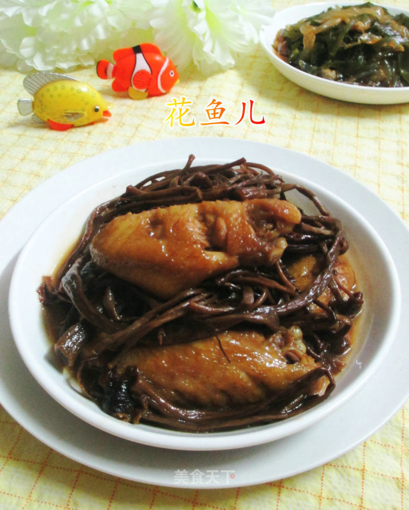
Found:
[[279, 11], [261, 45], [286, 78], [330, 98], [409, 101], [409, 11], [370, 2], [313, 3]]

